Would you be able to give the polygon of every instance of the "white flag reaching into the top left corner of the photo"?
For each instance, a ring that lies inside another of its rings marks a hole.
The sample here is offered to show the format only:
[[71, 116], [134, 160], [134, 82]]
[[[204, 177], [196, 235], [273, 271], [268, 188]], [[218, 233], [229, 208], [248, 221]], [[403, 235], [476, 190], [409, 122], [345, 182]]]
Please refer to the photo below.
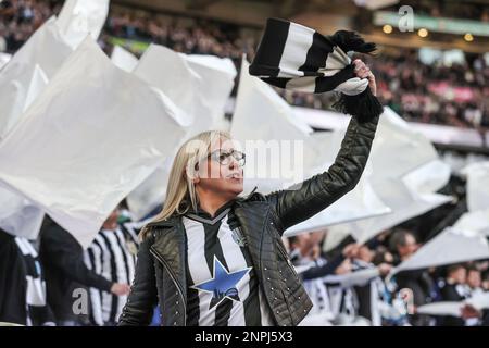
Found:
[[97, 39], [108, 11], [109, 0], [66, 0], [0, 70], [0, 140], [22, 120], [36, 66], [50, 79], [88, 34]]

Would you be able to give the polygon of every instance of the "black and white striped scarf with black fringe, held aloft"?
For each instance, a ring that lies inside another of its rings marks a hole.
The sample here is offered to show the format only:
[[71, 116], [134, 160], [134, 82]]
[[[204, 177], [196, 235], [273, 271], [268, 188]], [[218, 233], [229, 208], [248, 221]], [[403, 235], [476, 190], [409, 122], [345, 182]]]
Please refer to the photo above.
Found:
[[336, 108], [368, 121], [383, 112], [366, 78], [359, 78], [347, 52], [372, 53], [375, 44], [365, 42], [354, 32], [331, 36], [303, 25], [268, 18], [250, 75], [286, 89], [305, 92], [338, 91]]

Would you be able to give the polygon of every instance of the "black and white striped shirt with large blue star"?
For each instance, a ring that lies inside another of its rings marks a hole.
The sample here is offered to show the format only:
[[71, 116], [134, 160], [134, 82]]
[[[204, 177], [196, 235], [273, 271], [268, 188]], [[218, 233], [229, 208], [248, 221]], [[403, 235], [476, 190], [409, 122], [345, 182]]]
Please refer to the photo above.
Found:
[[269, 326], [272, 316], [238, 229], [228, 224], [229, 204], [214, 219], [183, 217], [187, 236], [187, 325]]

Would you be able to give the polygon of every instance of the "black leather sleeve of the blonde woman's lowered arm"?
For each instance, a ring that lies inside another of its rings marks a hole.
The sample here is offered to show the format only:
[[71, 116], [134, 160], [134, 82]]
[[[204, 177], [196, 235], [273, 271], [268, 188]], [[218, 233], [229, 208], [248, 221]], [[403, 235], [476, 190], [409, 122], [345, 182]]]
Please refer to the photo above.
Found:
[[158, 302], [155, 271], [150, 253], [153, 240], [150, 234], [139, 247], [135, 278], [118, 326], [148, 326], [151, 323]]

